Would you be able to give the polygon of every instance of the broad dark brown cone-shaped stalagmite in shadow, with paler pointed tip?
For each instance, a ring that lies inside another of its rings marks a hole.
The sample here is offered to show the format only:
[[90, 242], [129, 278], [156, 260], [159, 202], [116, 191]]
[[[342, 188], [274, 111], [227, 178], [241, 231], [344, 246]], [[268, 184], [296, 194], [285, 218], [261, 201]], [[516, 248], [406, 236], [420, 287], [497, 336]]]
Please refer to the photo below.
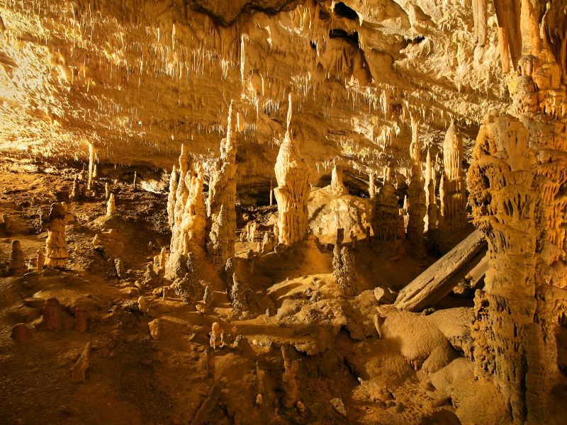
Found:
[[400, 215], [400, 206], [398, 205], [398, 198], [395, 196], [389, 167], [386, 171], [384, 184], [378, 192], [378, 196], [376, 196], [372, 229], [374, 230], [374, 237], [381, 241], [399, 240], [405, 233], [403, 216]]

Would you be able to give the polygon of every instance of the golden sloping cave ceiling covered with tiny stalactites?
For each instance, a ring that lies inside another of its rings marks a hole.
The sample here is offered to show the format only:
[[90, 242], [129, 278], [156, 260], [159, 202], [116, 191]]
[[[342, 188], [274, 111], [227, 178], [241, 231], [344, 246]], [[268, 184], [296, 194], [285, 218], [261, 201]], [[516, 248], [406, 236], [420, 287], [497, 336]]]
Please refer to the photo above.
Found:
[[[493, 6], [466, 1], [0, 0], [0, 149], [19, 159], [169, 168], [211, 159], [235, 102], [240, 178], [266, 179], [286, 131], [313, 179], [408, 166], [410, 115], [435, 155], [510, 103]], [[425, 159], [425, 152], [423, 153]]]

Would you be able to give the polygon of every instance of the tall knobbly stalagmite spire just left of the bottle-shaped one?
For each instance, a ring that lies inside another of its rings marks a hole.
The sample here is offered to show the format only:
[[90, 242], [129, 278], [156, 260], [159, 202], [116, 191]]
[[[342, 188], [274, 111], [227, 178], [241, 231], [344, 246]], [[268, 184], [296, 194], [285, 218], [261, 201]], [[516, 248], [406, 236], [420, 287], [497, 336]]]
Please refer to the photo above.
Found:
[[220, 159], [210, 176], [208, 217], [210, 230], [207, 252], [213, 266], [220, 271], [235, 254], [236, 233], [236, 140], [232, 133], [232, 102], [228, 108], [226, 138], [220, 141]]

